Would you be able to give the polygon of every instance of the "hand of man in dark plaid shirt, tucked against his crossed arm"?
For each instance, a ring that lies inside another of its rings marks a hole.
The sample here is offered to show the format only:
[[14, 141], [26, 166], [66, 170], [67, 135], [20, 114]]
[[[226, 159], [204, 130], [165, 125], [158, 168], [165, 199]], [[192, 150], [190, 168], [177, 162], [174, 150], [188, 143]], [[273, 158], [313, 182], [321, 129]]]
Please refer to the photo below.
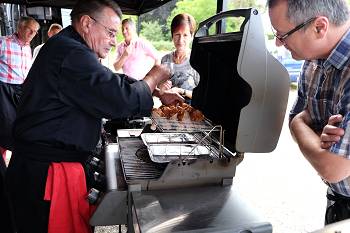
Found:
[[344, 129], [338, 128], [336, 125], [343, 120], [343, 116], [333, 115], [328, 119], [328, 124], [323, 128], [321, 133], [321, 148], [329, 149], [333, 144], [337, 143], [344, 135]]

